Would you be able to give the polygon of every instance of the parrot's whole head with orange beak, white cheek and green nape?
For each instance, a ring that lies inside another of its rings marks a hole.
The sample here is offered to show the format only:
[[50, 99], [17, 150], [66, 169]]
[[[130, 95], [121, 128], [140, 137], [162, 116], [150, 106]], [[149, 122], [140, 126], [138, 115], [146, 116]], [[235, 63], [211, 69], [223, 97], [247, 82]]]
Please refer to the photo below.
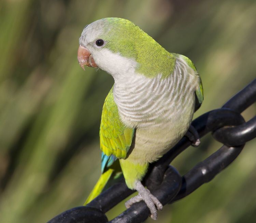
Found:
[[[131, 21], [103, 18], [87, 25], [79, 39], [80, 66], [98, 67], [114, 79], [137, 71], [144, 75], [170, 72], [170, 54]], [[168, 58], [167, 58], [168, 57]], [[123, 74], [123, 75], [121, 75]]]

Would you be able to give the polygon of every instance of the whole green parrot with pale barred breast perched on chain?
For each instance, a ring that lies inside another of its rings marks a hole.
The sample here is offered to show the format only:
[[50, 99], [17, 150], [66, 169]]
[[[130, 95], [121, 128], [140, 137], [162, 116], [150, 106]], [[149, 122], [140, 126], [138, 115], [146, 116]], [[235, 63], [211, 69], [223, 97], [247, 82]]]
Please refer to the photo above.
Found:
[[101, 193], [109, 179], [120, 175], [121, 167], [127, 187], [138, 191], [125, 206], [144, 200], [151, 218], [157, 219], [162, 204], [141, 181], [149, 163], [186, 133], [195, 146], [200, 143], [190, 127], [203, 101], [200, 76], [190, 59], [169, 53], [123, 18], [87, 25], [79, 44], [77, 59], [83, 69], [98, 67], [114, 78], [100, 123], [102, 174], [85, 204]]

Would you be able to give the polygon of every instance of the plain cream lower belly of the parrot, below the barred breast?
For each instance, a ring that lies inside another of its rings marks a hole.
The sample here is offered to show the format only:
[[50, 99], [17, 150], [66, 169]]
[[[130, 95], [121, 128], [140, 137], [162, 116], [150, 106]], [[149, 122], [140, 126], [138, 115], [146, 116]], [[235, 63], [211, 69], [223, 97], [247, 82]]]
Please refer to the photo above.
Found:
[[134, 147], [127, 159], [144, 163], [158, 160], [173, 147], [187, 132], [192, 121], [195, 99], [191, 97], [191, 104], [176, 113], [172, 119], [162, 121], [161, 125], [136, 130]]

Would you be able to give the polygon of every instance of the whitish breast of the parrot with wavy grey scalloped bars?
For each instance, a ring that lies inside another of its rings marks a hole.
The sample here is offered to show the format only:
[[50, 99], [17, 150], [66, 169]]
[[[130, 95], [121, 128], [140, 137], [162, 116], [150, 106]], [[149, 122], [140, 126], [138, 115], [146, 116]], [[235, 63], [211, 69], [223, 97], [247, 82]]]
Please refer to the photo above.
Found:
[[114, 100], [128, 127], [157, 127], [172, 122], [186, 112], [186, 104], [194, 104], [198, 77], [184, 60], [176, 60], [174, 72], [167, 78], [161, 78], [161, 74], [148, 78], [132, 68], [120, 77], [113, 76]]

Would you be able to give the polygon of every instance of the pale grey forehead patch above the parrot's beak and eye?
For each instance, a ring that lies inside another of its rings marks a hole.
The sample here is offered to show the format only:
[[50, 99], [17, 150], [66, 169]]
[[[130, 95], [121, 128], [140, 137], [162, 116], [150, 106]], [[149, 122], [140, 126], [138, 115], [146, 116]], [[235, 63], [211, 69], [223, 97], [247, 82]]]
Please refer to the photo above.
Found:
[[103, 34], [107, 32], [107, 25], [108, 24], [105, 20], [100, 19], [85, 26], [79, 39], [79, 44], [86, 45], [92, 41], [95, 41], [97, 38], [100, 38]]

